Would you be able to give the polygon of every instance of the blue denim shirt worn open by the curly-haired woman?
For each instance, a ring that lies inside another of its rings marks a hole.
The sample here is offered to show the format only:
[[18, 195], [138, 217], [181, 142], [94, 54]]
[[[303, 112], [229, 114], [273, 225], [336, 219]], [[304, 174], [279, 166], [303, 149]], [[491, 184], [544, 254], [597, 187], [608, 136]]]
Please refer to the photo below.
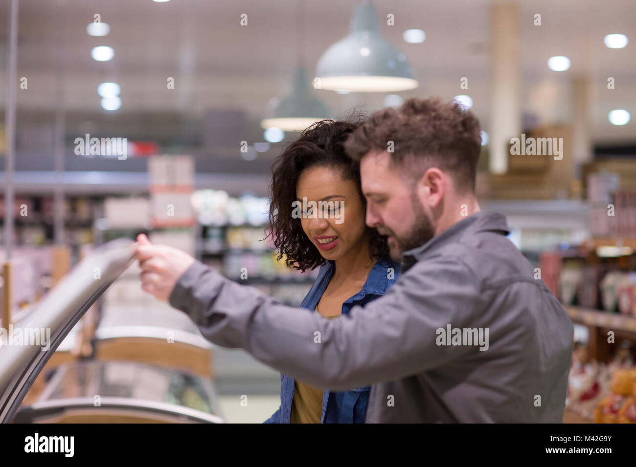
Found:
[[[392, 268], [390, 270], [389, 268]], [[320, 301], [333, 271], [335, 262], [326, 261], [319, 269], [318, 277], [301, 303], [310, 313]], [[362, 289], [342, 304], [342, 314], [349, 314], [354, 305], [364, 306], [384, 295], [395, 283], [400, 264], [391, 259], [378, 259], [364, 282]], [[349, 389], [348, 391], [324, 391], [322, 394], [321, 423], [364, 423], [371, 386]], [[280, 407], [264, 423], [289, 423], [291, 402], [294, 396], [294, 379], [280, 374]]]

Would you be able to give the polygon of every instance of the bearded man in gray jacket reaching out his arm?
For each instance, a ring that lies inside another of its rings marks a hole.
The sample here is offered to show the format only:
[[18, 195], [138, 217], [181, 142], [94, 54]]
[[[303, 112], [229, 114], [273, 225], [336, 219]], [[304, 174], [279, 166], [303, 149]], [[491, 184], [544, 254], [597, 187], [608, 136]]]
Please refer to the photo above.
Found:
[[560, 422], [573, 328], [474, 196], [480, 126], [460, 104], [411, 98], [347, 140], [366, 223], [402, 273], [384, 297], [327, 320], [279, 304], [140, 236], [142, 288], [210, 341], [315, 386], [373, 383], [375, 422]]

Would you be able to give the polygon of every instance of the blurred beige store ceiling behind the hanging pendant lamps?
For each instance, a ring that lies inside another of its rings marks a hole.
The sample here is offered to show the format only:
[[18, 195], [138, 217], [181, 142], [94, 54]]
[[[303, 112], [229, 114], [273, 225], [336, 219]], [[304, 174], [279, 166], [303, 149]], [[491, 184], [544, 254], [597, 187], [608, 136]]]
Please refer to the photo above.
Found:
[[[302, 53], [310, 72], [322, 52], [346, 34], [356, 3], [305, 1]], [[465, 76], [473, 111], [488, 127], [491, 3], [374, 2], [380, 18], [394, 14], [394, 26], [380, 22], [382, 34], [404, 52], [420, 81], [416, 90], [404, 91], [402, 97], [441, 95], [450, 99], [460, 93], [459, 79]], [[631, 137], [633, 125], [612, 126], [607, 113], [618, 108], [636, 115], [636, 2], [516, 3], [521, 13], [523, 114], [545, 123], [568, 121], [572, 116], [571, 80], [586, 76], [592, 82], [595, 140]], [[2, 83], [8, 4], [0, 4]], [[20, 0], [19, 13], [18, 77], [27, 77], [28, 89], [18, 91], [18, 126], [24, 123], [50, 129], [56, 109], [56, 73], [60, 69], [67, 138], [69, 132], [108, 125], [120, 125], [142, 137], [153, 132], [187, 133], [190, 123], [200, 125], [212, 109], [239, 109], [245, 112], [254, 139], [258, 139], [262, 130], [256, 122], [270, 98], [289, 90], [296, 65], [296, 2], [292, 0]], [[110, 26], [105, 37], [86, 33], [86, 25], [95, 13]], [[239, 24], [242, 13], [248, 15], [247, 27]], [[535, 13], [542, 15], [540, 27], [533, 24]], [[404, 30], [412, 28], [425, 31], [423, 43], [404, 41]], [[605, 47], [603, 37], [612, 32], [626, 34], [630, 44], [619, 50]], [[114, 48], [113, 60], [97, 62], [91, 58], [92, 48], [99, 45]], [[553, 55], [570, 57], [569, 71], [548, 69], [547, 59]], [[611, 91], [607, 90], [609, 76], [616, 80], [616, 88]], [[175, 80], [174, 90], [167, 89], [168, 77]], [[122, 105], [114, 113], [100, 108], [97, 86], [104, 81], [121, 86]], [[385, 98], [382, 93], [315, 93], [329, 105], [332, 116], [354, 106], [372, 111], [382, 107]], [[4, 92], [0, 102], [4, 107]]]

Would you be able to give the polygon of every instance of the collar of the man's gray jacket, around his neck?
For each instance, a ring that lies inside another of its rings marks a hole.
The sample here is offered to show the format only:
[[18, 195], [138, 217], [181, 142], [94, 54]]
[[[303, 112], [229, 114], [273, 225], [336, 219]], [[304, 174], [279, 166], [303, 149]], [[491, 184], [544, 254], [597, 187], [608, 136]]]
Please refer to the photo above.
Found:
[[441, 234], [434, 236], [431, 240], [424, 243], [424, 245], [404, 252], [402, 272], [405, 273], [413, 264], [424, 259], [427, 253], [446, 243], [459, 241], [459, 239], [466, 234], [488, 231], [508, 235], [510, 230], [508, 228], [508, 222], [506, 222], [506, 216], [498, 212], [485, 210], [469, 215], [466, 219], [460, 220], [456, 224], [448, 227], [448, 229]]

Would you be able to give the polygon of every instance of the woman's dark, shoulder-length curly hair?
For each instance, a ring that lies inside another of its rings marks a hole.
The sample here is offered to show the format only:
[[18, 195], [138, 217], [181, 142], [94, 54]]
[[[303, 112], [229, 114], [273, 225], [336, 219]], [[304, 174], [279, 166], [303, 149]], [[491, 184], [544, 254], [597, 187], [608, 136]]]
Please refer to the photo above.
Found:
[[[286, 257], [287, 267], [305, 272], [321, 266], [325, 261], [318, 248], [307, 238], [300, 219], [292, 217], [296, 183], [303, 170], [314, 166], [340, 170], [343, 180], [354, 180], [356, 183], [366, 211], [359, 162], [349, 159], [344, 149], [345, 140], [358, 128], [362, 119], [357, 116], [349, 118], [349, 121], [327, 119], [316, 122], [275, 159], [270, 183], [270, 226], [266, 238], [272, 236], [273, 243], [279, 250], [278, 259]], [[371, 227], [366, 227], [366, 234], [369, 236], [371, 257], [388, 258], [386, 237]]]

